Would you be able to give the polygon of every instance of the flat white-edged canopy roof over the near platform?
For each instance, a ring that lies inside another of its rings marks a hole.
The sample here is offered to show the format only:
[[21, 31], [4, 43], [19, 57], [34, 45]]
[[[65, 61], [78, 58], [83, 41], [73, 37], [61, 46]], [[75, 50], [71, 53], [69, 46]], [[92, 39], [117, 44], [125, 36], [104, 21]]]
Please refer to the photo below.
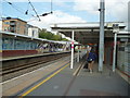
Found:
[[[106, 22], [104, 24], [104, 37], [105, 39], [113, 39], [113, 25], [118, 24], [119, 30], [125, 30], [123, 22]], [[100, 39], [100, 22], [91, 23], [57, 23], [51, 24], [51, 29], [57, 33], [64, 34], [66, 37], [72, 38], [72, 32], [74, 30], [74, 40], [81, 45], [99, 44]]]

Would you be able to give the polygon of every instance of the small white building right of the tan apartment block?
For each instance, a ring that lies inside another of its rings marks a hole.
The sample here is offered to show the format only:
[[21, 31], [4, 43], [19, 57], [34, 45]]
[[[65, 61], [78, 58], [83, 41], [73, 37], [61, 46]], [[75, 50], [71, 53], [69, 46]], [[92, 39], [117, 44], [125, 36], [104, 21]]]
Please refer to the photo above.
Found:
[[27, 24], [27, 29], [28, 29], [28, 36], [38, 38], [39, 37], [39, 29], [36, 26]]

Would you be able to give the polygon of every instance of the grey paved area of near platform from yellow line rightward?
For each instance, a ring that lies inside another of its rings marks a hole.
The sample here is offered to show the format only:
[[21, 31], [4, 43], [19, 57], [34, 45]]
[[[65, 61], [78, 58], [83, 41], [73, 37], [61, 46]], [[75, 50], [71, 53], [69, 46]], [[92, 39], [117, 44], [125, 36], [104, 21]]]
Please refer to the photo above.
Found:
[[[81, 63], [75, 63], [74, 69], [64, 68], [48, 81], [36, 83], [24, 90], [23, 96], [130, 96], [130, 85], [117, 73], [104, 65], [103, 73], [98, 72], [94, 64], [93, 73], [82, 69], [78, 75], [75, 71]], [[54, 73], [53, 73], [54, 74]], [[18, 96], [21, 96], [18, 95]]]

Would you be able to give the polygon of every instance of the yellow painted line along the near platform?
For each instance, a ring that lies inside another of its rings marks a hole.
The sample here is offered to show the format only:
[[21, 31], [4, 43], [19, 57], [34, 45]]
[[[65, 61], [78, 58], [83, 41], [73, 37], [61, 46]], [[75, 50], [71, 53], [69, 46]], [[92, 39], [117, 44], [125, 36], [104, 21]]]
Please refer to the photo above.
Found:
[[55, 73], [53, 73], [52, 75], [50, 75], [49, 77], [47, 77], [46, 79], [43, 79], [41, 83], [39, 83], [39, 84], [36, 85], [35, 87], [30, 88], [28, 91], [24, 93], [24, 94], [21, 96], [21, 98], [24, 97], [24, 96], [26, 96], [26, 95], [28, 95], [29, 93], [31, 93], [31, 91], [35, 90], [36, 88], [38, 88], [40, 85], [42, 85], [43, 83], [46, 83], [47, 81], [49, 81], [50, 78], [52, 78], [54, 75], [56, 75], [57, 73], [60, 73], [62, 70], [64, 70], [64, 69], [67, 68], [68, 65], [69, 65], [69, 63], [66, 64], [64, 68], [60, 69], [58, 71], [56, 71]]

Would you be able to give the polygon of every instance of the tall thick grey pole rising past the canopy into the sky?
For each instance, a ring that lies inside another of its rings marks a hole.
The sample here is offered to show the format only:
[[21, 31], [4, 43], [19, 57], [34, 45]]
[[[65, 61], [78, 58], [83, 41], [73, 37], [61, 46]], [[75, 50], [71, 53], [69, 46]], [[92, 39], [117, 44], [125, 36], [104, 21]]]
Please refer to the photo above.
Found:
[[99, 72], [103, 71], [103, 60], [104, 60], [104, 0], [100, 2], [100, 45], [99, 45]]

